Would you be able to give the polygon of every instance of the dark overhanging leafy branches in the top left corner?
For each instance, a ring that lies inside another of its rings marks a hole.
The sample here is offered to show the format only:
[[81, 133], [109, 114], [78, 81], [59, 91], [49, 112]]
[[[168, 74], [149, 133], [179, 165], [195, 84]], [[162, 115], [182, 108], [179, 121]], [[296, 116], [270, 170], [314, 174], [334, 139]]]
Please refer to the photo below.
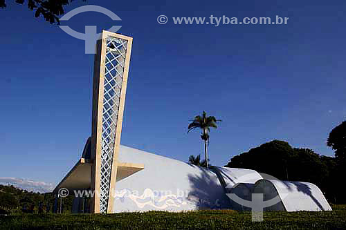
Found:
[[[35, 11], [35, 17], [42, 16], [49, 23], [58, 23], [59, 16], [64, 15], [64, 6], [72, 0], [15, 0], [21, 5], [27, 4], [30, 10]], [[83, 0], [85, 1], [85, 0]], [[0, 8], [6, 8], [6, 0], [0, 0]]]

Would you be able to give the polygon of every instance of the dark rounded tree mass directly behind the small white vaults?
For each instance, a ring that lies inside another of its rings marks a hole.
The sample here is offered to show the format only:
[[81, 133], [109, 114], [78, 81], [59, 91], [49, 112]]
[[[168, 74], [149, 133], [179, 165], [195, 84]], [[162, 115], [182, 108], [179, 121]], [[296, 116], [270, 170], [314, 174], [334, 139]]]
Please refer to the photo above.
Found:
[[309, 148], [292, 148], [287, 142], [273, 140], [232, 157], [226, 166], [253, 169], [280, 180], [311, 182], [329, 201], [345, 202], [343, 185], [337, 181], [341, 174], [336, 158], [318, 155]]

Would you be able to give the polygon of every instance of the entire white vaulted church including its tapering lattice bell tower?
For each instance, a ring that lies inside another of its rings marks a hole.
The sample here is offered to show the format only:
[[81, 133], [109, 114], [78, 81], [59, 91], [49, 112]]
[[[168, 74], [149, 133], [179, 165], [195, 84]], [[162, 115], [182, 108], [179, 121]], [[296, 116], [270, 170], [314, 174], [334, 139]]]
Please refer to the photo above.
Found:
[[[120, 146], [132, 38], [103, 31], [96, 46], [93, 76], [91, 137], [82, 158], [56, 186], [91, 191], [75, 198], [73, 211], [187, 211], [248, 207], [230, 200], [235, 193], [251, 200], [255, 191], [270, 195], [289, 193], [273, 210], [330, 210], [317, 186], [304, 182], [272, 182], [250, 169], [213, 166], [205, 169], [161, 155]], [[187, 154], [189, 155], [189, 154]], [[280, 183], [284, 183], [281, 188]], [[300, 184], [298, 184], [300, 183]], [[304, 202], [298, 202], [304, 200]], [[56, 210], [56, 209], [55, 209]]]

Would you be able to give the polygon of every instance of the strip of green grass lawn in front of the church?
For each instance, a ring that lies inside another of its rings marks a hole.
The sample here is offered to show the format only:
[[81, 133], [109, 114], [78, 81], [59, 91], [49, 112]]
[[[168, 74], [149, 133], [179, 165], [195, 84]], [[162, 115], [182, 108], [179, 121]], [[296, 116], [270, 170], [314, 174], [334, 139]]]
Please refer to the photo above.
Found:
[[346, 205], [322, 212], [189, 211], [115, 214], [15, 214], [0, 216], [0, 229], [346, 229]]

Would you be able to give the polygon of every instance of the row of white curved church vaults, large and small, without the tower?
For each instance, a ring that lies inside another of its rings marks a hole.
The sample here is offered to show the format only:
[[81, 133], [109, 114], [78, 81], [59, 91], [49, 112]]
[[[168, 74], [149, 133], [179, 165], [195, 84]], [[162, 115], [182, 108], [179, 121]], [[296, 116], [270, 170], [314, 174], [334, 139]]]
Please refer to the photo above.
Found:
[[280, 195], [282, 201], [266, 210], [331, 210], [320, 189], [311, 183], [263, 180], [250, 169], [218, 166], [207, 170], [127, 146], [120, 146], [119, 160], [144, 164], [145, 168], [116, 182], [113, 212], [230, 209], [233, 206], [233, 209], [248, 210], [230, 201], [226, 186], [244, 200], [251, 200], [253, 192], [264, 193], [265, 200]]

